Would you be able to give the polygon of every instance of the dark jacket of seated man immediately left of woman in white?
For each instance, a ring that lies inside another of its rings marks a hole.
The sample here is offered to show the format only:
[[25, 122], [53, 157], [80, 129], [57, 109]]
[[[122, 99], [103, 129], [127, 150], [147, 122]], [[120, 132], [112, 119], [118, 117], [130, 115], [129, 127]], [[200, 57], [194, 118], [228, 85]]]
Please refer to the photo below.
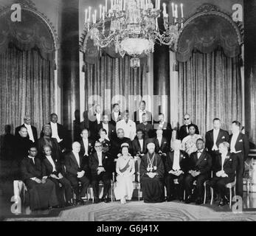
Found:
[[[109, 156], [105, 155], [105, 153], [102, 153], [102, 162], [103, 162], [103, 167], [106, 171], [111, 176], [111, 170], [113, 169], [114, 162], [112, 161]], [[99, 159], [97, 156], [97, 152], [94, 152], [89, 156], [89, 167], [91, 170], [91, 175], [95, 176], [97, 175], [97, 167], [99, 167]]]

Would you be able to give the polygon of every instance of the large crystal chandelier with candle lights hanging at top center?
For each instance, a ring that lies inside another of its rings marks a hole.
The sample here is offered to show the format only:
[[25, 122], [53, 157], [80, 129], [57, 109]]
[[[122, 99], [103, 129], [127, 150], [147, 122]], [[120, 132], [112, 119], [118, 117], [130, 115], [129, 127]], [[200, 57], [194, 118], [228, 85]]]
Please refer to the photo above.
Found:
[[[131, 67], [140, 66], [139, 58], [154, 51], [154, 44], [165, 44], [173, 49], [179, 30], [183, 27], [183, 4], [181, 23], [178, 20], [178, 5], [172, 3], [173, 20], [169, 21], [166, 4], [163, 6], [165, 30], [159, 30], [160, 1], [153, 6], [151, 0], [108, 0], [100, 4], [100, 13], [85, 10], [86, 32], [94, 41], [94, 46], [104, 48], [114, 44], [115, 51], [122, 57], [131, 56]], [[98, 17], [97, 17], [98, 16]]]

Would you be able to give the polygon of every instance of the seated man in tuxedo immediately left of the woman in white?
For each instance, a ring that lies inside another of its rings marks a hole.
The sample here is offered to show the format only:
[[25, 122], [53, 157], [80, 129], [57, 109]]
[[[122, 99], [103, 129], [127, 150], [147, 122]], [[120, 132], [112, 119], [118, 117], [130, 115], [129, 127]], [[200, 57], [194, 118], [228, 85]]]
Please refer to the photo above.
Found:
[[95, 142], [96, 152], [89, 156], [89, 167], [91, 170], [91, 185], [94, 191], [94, 203], [99, 202], [99, 181], [103, 181], [103, 201], [108, 203], [108, 191], [111, 187], [112, 159], [102, 151], [102, 144]]

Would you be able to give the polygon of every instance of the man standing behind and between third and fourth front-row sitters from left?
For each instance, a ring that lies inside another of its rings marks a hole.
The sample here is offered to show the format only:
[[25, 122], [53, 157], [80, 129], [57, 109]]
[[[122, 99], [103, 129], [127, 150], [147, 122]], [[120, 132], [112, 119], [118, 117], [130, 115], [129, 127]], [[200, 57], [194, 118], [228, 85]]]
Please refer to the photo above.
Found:
[[80, 155], [88, 158], [94, 150], [94, 140], [89, 138], [89, 131], [87, 128], [83, 128], [80, 133]]

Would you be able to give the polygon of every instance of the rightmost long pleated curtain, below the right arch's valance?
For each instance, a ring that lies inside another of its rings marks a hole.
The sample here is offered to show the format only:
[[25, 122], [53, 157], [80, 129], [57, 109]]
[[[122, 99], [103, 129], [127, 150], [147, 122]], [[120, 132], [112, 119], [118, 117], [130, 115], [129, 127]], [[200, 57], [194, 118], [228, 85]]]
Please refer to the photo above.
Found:
[[179, 63], [179, 125], [189, 113], [200, 134], [212, 129], [218, 117], [222, 127], [242, 122], [241, 67], [239, 58], [227, 58], [220, 49], [209, 54], [193, 52], [192, 58]]

